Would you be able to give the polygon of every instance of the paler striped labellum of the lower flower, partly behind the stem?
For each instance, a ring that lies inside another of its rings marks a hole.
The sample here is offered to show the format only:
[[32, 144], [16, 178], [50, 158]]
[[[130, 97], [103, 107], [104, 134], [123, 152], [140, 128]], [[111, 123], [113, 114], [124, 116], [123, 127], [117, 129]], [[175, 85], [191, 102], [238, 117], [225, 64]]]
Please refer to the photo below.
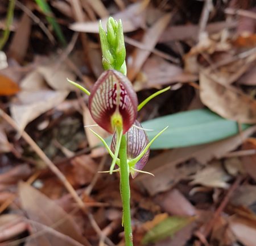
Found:
[[[144, 148], [146, 148], [149, 140], [147, 137], [146, 132], [143, 130], [141, 123], [138, 120], [135, 120], [134, 126], [127, 131], [126, 136], [127, 141], [127, 158], [129, 160], [135, 159]], [[117, 134], [114, 134], [112, 142], [111, 142], [111, 150], [115, 151], [115, 146], [117, 145]], [[147, 149], [146, 153], [139, 159], [139, 161], [132, 166], [131, 177], [135, 178], [138, 175], [138, 172], [133, 169], [142, 170], [144, 165], [146, 165], [148, 157], [150, 154], [149, 148]]]

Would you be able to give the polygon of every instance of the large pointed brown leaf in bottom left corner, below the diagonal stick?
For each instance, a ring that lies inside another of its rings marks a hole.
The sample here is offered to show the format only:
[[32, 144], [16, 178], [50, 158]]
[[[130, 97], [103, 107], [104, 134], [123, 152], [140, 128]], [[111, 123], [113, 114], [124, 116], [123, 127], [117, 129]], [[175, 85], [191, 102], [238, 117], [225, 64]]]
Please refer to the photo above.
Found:
[[[54, 227], [57, 232], [69, 236], [81, 244], [88, 245], [71, 215], [46, 195], [26, 183], [21, 183], [19, 184], [19, 197], [22, 209], [27, 212], [28, 218], [44, 226]], [[38, 231], [39, 228], [36, 228]], [[44, 236], [42, 237], [44, 238]], [[51, 245], [59, 244], [52, 238]]]

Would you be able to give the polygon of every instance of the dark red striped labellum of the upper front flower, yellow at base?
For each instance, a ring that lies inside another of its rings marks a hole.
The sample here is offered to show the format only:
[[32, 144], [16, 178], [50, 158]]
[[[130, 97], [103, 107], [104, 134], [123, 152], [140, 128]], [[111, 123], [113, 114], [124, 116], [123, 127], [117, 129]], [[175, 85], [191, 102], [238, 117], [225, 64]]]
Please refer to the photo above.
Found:
[[95, 122], [114, 134], [122, 128], [125, 134], [137, 116], [138, 98], [126, 76], [106, 70], [94, 84], [89, 97], [89, 110]]

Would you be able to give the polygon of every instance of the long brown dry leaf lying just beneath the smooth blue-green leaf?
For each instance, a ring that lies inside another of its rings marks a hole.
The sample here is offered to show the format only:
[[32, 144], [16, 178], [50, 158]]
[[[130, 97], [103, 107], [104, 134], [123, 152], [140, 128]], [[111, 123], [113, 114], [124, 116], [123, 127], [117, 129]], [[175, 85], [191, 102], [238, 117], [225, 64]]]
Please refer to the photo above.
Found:
[[236, 149], [243, 141], [256, 131], [256, 127], [251, 127], [241, 134], [229, 137], [214, 143], [197, 145], [186, 148], [177, 148], [166, 151], [147, 162], [144, 170], [154, 173], [155, 177], [141, 175], [134, 182], [142, 186], [151, 195], [161, 191], [166, 191], [176, 184], [181, 178], [187, 178], [189, 174], [195, 173], [201, 168], [200, 165], [192, 165], [190, 169], [187, 166], [183, 169], [177, 169], [176, 165], [195, 158], [201, 164], [206, 164], [213, 158], [220, 159], [229, 151]]

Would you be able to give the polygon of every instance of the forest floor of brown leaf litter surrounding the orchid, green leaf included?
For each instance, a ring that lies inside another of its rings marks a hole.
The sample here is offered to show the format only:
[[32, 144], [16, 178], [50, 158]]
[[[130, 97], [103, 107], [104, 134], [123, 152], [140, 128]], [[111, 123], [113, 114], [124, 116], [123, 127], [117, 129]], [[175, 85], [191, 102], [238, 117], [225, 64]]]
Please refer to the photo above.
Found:
[[[152, 145], [131, 181], [134, 246], [256, 246], [256, 3], [0, 3], [0, 246], [125, 245], [119, 174], [85, 125], [98, 20], [122, 19]], [[153, 120], [154, 119], [154, 120]], [[108, 134], [99, 127], [94, 131]]]

